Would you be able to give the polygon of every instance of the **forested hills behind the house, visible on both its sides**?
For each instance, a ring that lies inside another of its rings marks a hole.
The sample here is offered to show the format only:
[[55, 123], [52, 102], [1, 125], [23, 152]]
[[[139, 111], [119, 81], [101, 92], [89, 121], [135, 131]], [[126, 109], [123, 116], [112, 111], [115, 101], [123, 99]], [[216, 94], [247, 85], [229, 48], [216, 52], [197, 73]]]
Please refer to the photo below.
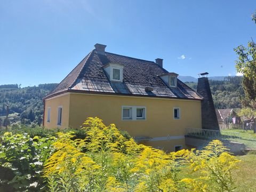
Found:
[[[197, 83], [185, 82], [196, 90]], [[242, 77], [226, 77], [223, 81], [209, 80], [215, 108], [242, 108]], [[9, 105], [8, 124], [42, 125], [43, 98], [57, 83], [22, 87], [18, 84], [0, 85], [0, 126], [6, 125], [6, 110]]]

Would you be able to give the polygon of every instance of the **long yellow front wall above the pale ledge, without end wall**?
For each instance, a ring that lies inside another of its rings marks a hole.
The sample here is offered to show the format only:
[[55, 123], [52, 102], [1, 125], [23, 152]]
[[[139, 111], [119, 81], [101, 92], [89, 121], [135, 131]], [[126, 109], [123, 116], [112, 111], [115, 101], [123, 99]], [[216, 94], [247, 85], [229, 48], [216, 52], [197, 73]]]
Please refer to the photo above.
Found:
[[[146, 120], [122, 120], [122, 106], [145, 106]], [[180, 108], [180, 119], [173, 119], [174, 107]], [[101, 118], [106, 125], [115, 123], [119, 129], [128, 131], [131, 135], [183, 135], [186, 127], [201, 128], [201, 102], [70, 94], [70, 127], [79, 127], [87, 117], [95, 116]]]

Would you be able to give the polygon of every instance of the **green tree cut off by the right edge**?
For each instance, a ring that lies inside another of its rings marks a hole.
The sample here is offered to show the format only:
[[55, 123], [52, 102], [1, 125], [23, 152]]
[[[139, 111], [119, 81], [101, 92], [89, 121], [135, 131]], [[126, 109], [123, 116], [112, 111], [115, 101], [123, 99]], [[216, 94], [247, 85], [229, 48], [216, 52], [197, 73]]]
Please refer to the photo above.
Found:
[[[252, 20], [256, 23], [256, 12], [252, 15]], [[238, 55], [236, 69], [244, 75], [245, 97], [242, 99], [242, 104], [244, 107], [256, 108], [256, 44], [251, 39], [247, 47], [239, 45], [234, 50]]]

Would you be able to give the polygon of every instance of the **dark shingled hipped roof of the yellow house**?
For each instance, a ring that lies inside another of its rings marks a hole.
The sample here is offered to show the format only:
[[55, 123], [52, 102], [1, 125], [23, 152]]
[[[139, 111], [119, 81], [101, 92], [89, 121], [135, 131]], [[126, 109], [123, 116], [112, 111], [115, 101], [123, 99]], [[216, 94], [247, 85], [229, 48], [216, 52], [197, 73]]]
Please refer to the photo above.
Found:
[[[124, 65], [123, 82], [110, 82], [102, 66], [108, 63]], [[179, 79], [177, 87], [167, 86], [159, 77], [168, 71], [153, 61], [146, 61], [106, 52], [98, 54], [95, 50], [86, 57], [63, 79], [46, 98], [65, 91], [79, 91], [99, 94], [123, 94], [145, 97], [165, 97], [180, 99], [197, 99], [202, 97]], [[145, 91], [145, 87], [153, 91]]]

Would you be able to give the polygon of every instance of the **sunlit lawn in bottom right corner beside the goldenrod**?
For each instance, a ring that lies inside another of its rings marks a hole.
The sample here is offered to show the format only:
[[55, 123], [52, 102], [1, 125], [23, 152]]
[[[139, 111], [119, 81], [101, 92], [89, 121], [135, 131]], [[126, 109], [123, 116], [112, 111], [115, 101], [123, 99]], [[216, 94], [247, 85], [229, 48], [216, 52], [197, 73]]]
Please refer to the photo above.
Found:
[[256, 183], [256, 153], [248, 153], [247, 155], [238, 156], [241, 163], [238, 164], [240, 167], [233, 171], [234, 180], [237, 188], [235, 191], [239, 192], [251, 192], [255, 191]]

